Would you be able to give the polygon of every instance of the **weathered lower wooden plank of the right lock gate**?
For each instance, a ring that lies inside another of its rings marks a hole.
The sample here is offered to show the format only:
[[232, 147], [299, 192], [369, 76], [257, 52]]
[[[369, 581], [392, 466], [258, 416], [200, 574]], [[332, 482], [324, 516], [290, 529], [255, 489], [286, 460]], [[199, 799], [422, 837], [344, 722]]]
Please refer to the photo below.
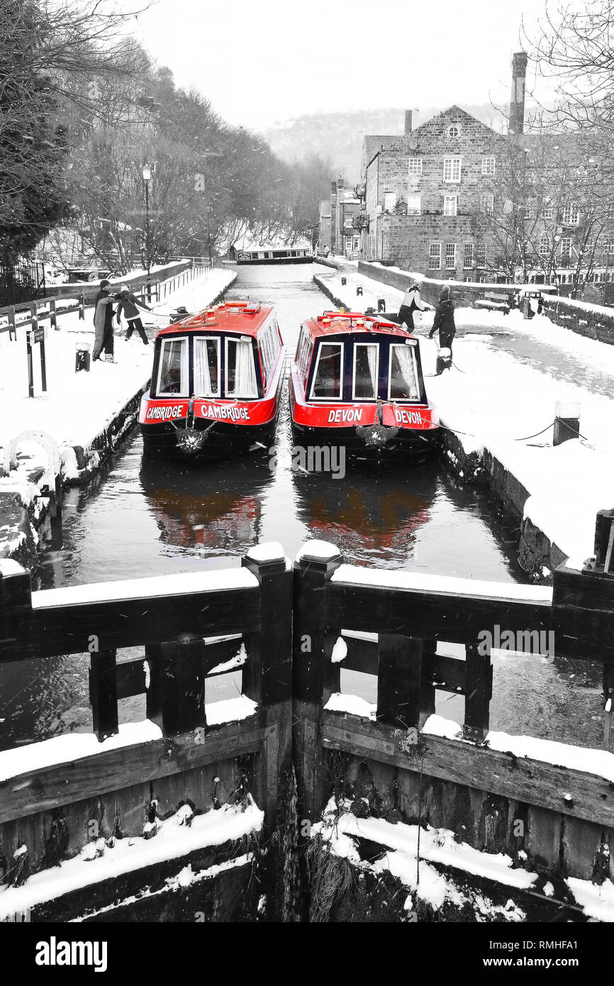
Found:
[[[426, 777], [614, 827], [614, 785], [603, 777], [462, 740], [424, 735], [420, 756], [412, 757], [400, 747], [402, 738], [398, 730], [356, 716], [323, 714], [322, 743], [327, 748], [370, 756], [405, 770], [420, 771], [422, 765]], [[571, 802], [564, 800], [568, 792]]]

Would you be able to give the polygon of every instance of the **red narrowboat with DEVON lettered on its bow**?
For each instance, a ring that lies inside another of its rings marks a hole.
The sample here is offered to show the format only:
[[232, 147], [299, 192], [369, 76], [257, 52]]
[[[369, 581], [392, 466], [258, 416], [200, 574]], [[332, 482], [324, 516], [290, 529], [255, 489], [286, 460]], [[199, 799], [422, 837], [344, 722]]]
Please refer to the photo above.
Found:
[[290, 375], [290, 409], [297, 445], [343, 447], [357, 465], [426, 458], [440, 443], [418, 338], [376, 316], [307, 318]]

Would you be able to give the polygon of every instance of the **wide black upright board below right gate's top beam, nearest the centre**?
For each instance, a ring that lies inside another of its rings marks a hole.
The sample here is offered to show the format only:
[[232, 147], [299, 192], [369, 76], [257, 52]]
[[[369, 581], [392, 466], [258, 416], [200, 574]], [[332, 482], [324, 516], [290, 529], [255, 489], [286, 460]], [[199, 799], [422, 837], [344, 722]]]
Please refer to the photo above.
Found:
[[379, 634], [377, 719], [420, 730], [435, 711], [435, 644], [400, 634]]

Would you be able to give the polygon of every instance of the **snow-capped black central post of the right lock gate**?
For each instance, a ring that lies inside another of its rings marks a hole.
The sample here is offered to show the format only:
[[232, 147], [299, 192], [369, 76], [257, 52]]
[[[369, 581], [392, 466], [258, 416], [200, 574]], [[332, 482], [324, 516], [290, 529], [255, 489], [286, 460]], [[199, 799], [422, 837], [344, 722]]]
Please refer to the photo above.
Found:
[[327, 583], [342, 562], [333, 544], [314, 540], [304, 545], [294, 568], [293, 722], [300, 821], [315, 821], [322, 808], [322, 699], [335, 636], [327, 621]]

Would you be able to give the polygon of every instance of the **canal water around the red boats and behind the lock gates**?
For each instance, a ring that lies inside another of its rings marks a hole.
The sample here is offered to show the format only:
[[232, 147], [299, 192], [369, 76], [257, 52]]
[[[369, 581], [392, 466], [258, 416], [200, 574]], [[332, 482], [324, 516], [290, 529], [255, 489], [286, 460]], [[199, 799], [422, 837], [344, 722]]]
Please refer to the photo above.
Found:
[[[274, 304], [292, 354], [301, 321], [329, 306], [312, 283], [314, 265], [238, 271], [228, 297]], [[463, 487], [440, 462], [380, 476], [294, 470], [286, 398], [276, 445], [257, 457], [193, 468], [145, 461], [142, 451], [135, 430], [89, 488], [68, 491], [62, 544], [42, 552], [36, 589], [234, 567], [262, 540], [280, 541], [294, 558], [309, 537], [334, 542], [356, 564], [525, 581], [517, 532], [484, 490]], [[440, 651], [460, 654], [451, 645]], [[118, 660], [141, 653], [126, 650]], [[492, 729], [600, 745], [599, 668], [504, 654], [493, 664]], [[88, 655], [0, 665], [0, 749], [89, 731], [88, 666]], [[222, 675], [207, 682], [206, 700], [239, 688], [240, 673]], [[369, 675], [342, 673], [342, 689], [375, 701]], [[143, 696], [120, 706], [120, 722], [144, 718]], [[462, 722], [463, 700], [439, 693], [437, 711]]]

